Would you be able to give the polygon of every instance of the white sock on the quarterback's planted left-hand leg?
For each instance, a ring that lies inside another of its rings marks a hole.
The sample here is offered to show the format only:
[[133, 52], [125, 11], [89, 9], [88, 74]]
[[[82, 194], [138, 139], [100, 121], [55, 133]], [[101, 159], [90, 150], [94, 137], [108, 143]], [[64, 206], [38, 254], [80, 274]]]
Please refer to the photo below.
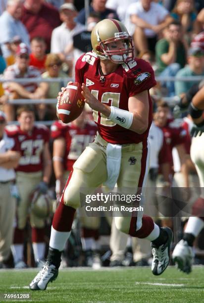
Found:
[[50, 247], [62, 252], [64, 250], [67, 239], [70, 235], [69, 232], [59, 232], [51, 227], [51, 239], [50, 239]]

